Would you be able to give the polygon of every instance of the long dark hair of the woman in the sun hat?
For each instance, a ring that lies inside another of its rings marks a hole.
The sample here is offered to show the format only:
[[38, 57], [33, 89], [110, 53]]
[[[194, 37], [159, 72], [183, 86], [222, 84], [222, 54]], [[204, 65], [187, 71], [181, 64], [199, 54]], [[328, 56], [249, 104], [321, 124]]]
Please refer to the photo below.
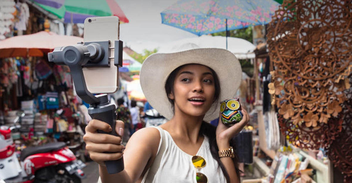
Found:
[[[188, 65], [188, 64], [187, 64]], [[166, 80], [165, 83], [165, 91], [166, 91], [166, 95], [168, 96], [169, 102], [171, 103], [172, 107], [174, 107], [175, 103], [174, 100], [169, 98], [169, 94], [172, 92], [174, 92], [174, 81], [176, 78], [176, 74], [177, 72], [186, 65], [182, 65], [180, 67], [177, 67], [174, 71], [172, 71], [168, 77], [168, 79]], [[209, 68], [209, 67], [208, 67]], [[220, 95], [220, 82], [219, 82], [219, 78], [216, 75], [215, 71], [212, 68], [209, 68], [210, 71], [212, 71], [213, 77], [214, 77], [214, 84], [215, 84], [215, 94], [214, 94], [214, 102], [219, 102], [219, 95]], [[216, 127], [207, 123], [207, 122], [202, 122], [202, 125], [200, 127], [199, 133], [201, 135], [205, 135], [208, 137], [209, 139], [209, 146], [210, 146], [210, 152], [212, 153], [213, 158], [216, 160], [216, 162], [218, 162], [222, 172], [224, 173], [224, 176], [226, 178], [226, 182], [230, 182], [230, 176], [228, 175], [224, 164], [222, 164], [222, 162], [220, 161], [219, 158], [219, 148], [218, 148], [218, 144], [216, 144]], [[230, 140], [230, 144], [233, 144], [232, 140]], [[235, 146], [234, 146], [235, 148]], [[236, 168], [236, 174], [237, 177], [239, 178], [239, 169], [238, 169], [238, 159], [237, 156], [235, 156], [235, 158], [232, 158], [232, 161], [235, 165]]]

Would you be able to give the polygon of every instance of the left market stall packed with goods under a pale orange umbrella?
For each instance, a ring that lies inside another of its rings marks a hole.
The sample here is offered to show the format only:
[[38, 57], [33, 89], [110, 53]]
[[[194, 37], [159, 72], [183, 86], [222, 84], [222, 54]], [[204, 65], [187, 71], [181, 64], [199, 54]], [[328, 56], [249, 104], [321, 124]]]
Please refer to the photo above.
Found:
[[[48, 142], [65, 142], [78, 158], [84, 125], [82, 100], [74, 94], [69, 68], [48, 62], [55, 47], [73, 45], [81, 37], [40, 31], [0, 41], [0, 124], [12, 129], [16, 150]], [[85, 106], [84, 106], [85, 107]]]

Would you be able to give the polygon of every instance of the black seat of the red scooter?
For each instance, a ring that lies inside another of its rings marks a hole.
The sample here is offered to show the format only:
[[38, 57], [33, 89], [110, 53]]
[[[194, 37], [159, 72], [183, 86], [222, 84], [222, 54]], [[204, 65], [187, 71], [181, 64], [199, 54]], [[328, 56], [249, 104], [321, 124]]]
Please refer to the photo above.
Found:
[[64, 142], [54, 142], [54, 143], [48, 143], [40, 146], [25, 148], [21, 152], [20, 160], [23, 161], [26, 157], [34, 154], [38, 154], [38, 153], [56, 151], [64, 148], [65, 146], [67, 145]]

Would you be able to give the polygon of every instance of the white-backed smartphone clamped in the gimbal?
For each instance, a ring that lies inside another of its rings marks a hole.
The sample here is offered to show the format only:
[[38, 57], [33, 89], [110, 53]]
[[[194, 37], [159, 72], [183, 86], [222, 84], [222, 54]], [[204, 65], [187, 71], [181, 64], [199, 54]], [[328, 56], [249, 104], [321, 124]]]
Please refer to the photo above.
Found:
[[[84, 42], [110, 41], [114, 47], [119, 39], [119, 18], [91, 17], [84, 20]], [[118, 90], [118, 67], [114, 63], [114, 49], [109, 49], [110, 67], [83, 67], [83, 75], [90, 93], [114, 93]]]

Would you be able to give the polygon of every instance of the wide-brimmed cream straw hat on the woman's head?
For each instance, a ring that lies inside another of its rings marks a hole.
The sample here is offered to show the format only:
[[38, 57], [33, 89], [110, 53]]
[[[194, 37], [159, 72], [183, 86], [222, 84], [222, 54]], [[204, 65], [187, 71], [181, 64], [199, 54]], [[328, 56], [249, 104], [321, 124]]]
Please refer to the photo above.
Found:
[[[142, 65], [140, 85], [150, 105], [166, 119], [174, 116], [165, 91], [166, 79], [177, 67], [185, 64], [201, 64], [215, 71], [220, 82], [219, 101], [235, 96], [241, 82], [242, 69], [238, 59], [230, 51], [185, 44], [173, 49], [172, 53], [155, 53]], [[206, 113], [206, 122], [219, 117], [219, 101], [214, 102]]]

